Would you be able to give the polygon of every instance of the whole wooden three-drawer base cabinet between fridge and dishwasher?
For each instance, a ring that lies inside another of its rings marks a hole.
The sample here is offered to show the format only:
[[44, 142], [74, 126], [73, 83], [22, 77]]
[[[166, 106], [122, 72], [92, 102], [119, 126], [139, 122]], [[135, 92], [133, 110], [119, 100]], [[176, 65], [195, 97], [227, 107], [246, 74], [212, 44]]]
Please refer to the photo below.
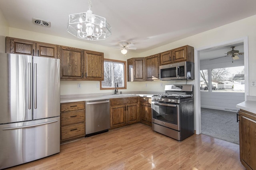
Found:
[[85, 103], [60, 104], [60, 143], [85, 136]]

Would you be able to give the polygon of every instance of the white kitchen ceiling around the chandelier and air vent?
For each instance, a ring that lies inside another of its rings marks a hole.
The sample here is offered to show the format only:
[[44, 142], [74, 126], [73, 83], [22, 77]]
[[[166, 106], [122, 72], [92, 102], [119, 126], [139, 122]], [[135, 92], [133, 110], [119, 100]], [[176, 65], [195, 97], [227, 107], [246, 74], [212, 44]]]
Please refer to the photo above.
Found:
[[[66, 31], [68, 15], [88, 10], [88, 0], [0, 0], [0, 10], [10, 27], [56, 35], [78, 41], [118, 47], [130, 41], [141, 53], [256, 14], [255, 0], [92, 0], [94, 14], [105, 17], [112, 35], [87, 41]], [[32, 23], [32, 18], [51, 27]], [[188, 44], [189, 45], [189, 44]]]

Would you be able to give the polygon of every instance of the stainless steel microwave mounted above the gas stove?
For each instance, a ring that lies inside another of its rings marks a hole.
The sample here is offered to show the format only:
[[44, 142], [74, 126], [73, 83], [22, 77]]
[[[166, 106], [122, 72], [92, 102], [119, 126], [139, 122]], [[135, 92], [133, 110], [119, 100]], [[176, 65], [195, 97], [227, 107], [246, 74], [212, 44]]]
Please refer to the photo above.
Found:
[[160, 80], [194, 80], [194, 63], [184, 61], [159, 66]]

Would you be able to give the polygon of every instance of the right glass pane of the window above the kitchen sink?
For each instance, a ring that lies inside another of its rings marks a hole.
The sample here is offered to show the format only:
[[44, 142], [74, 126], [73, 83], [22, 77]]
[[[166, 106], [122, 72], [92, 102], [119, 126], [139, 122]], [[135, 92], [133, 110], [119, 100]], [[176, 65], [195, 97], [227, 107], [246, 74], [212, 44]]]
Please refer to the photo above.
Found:
[[118, 87], [124, 87], [124, 64], [114, 63], [114, 82], [118, 83]]

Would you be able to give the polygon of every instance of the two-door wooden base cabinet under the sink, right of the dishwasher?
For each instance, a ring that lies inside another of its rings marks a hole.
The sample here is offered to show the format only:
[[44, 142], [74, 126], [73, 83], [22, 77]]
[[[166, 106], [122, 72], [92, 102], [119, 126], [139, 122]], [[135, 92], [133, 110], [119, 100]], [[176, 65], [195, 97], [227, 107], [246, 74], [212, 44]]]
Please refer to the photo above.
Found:
[[110, 129], [139, 120], [138, 97], [110, 99]]

